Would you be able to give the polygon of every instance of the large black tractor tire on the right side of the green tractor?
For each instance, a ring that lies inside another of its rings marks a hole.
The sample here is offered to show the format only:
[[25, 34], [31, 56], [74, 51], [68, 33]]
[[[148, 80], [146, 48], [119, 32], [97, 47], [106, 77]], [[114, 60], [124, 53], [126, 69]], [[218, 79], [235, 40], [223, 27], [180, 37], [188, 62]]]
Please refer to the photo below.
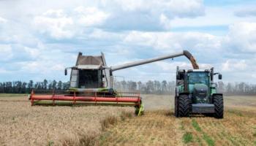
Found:
[[214, 96], [214, 117], [222, 119], [223, 118], [223, 96], [222, 95], [216, 95]]

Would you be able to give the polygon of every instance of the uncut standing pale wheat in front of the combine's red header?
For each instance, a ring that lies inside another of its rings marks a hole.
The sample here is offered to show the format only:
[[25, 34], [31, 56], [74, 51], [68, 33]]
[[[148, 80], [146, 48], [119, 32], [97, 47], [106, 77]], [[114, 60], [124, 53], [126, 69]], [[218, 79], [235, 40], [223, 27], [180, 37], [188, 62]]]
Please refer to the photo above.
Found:
[[27, 96], [1, 95], [0, 145], [79, 144], [95, 140], [101, 120], [131, 112], [132, 107], [31, 107]]

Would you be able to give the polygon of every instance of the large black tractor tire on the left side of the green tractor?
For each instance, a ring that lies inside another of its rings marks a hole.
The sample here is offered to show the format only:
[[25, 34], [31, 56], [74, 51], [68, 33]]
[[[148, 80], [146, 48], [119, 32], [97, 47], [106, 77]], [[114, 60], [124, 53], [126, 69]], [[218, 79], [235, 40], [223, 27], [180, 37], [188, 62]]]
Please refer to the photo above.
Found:
[[188, 117], [190, 108], [190, 99], [188, 95], [178, 96], [178, 117]]

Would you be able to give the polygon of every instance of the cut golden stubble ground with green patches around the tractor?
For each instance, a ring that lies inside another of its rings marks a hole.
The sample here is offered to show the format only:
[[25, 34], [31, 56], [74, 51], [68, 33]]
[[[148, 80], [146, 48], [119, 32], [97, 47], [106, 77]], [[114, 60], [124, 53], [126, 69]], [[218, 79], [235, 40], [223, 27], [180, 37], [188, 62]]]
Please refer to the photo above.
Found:
[[144, 95], [143, 101], [145, 115], [109, 128], [101, 145], [256, 145], [255, 96], [227, 96], [222, 120], [175, 118], [173, 96]]

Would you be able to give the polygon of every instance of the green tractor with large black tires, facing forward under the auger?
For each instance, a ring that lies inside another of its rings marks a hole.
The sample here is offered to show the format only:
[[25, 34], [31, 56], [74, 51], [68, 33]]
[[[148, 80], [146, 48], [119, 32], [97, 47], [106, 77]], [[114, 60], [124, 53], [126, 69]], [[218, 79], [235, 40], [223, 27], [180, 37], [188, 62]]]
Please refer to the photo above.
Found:
[[[189, 117], [192, 114], [203, 114], [223, 118], [223, 96], [217, 93], [214, 82], [214, 68], [178, 69], [176, 71], [175, 116]], [[222, 74], [219, 74], [222, 80]]]

